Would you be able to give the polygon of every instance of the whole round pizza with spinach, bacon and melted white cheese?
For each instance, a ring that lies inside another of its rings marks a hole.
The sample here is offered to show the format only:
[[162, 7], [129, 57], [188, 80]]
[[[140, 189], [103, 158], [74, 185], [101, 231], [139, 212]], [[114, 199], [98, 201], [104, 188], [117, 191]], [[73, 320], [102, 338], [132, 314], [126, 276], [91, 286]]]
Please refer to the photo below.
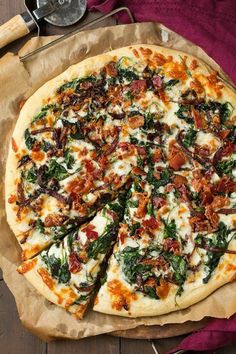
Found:
[[24, 103], [7, 160], [19, 273], [80, 319], [89, 302], [165, 314], [235, 280], [235, 122], [217, 73], [154, 45], [47, 82]]

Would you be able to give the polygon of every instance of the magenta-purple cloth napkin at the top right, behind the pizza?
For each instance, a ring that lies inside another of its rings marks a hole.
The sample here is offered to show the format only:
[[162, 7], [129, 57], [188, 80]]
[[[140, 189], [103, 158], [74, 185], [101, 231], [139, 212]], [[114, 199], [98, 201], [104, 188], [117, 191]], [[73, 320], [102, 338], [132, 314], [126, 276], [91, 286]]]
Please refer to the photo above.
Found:
[[[88, 0], [90, 10], [127, 6], [137, 22], [156, 21], [200, 46], [236, 84], [236, 0]], [[127, 15], [119, 15], [127, 23]]]

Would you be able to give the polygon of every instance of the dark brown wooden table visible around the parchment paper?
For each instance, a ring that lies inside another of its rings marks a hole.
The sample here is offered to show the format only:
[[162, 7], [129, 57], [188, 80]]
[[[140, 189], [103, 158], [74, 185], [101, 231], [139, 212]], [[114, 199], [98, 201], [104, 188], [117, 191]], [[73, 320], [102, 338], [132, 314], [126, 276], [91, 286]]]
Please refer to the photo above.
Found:
[[[23, 0], [0, 0], [0, 24], [6, 22], [16, 14], [24, 11]], [[100, 14], [86, 14], [80, 24], [87, 23]], [[109, 26], [116, 23], [108, 19], [100, 26]], [[41, 25], [41, 35], [63, 34], [77, 25], [69, 28], [57, 28], [47, 23]], [[36, 32], [9, 44], [0, 50], [0, 57], [8, 51], [16, 52]], [[82, 339], [79, 341], [62, 340], [44, 343], [24, 329], [18, 318], [16, 305], [12, 294], [2, 279], [0, 270], [0, 354], [164, 354], [177, 345], [184, 336], [162, 340], [135, 340], [102, 335]], [[155, 348], [154, 348], [155, 346]], [[233, 354], [234, 346], [218, 350], [217, 354]]]

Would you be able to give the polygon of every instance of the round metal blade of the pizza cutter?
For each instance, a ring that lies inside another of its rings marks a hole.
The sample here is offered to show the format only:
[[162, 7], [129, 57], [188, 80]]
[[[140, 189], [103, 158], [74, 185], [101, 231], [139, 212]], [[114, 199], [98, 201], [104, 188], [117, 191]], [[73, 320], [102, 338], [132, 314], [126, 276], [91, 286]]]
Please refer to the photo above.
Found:
[[87, 0], [37, 0], [37, 7], [46, 5], [49, 2], [55, 2], [56, 10], [44, 19], [54, 26], [70, 26], [83, 17]]

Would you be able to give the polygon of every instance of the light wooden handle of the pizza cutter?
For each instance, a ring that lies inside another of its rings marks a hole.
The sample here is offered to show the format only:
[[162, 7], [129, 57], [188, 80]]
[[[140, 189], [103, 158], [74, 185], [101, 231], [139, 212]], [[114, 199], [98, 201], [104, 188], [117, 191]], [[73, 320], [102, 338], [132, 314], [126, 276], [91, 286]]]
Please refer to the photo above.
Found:
[[30, 32], [21, 15], [16, 15], [0, 26], [0, 48], [21, 38]]

